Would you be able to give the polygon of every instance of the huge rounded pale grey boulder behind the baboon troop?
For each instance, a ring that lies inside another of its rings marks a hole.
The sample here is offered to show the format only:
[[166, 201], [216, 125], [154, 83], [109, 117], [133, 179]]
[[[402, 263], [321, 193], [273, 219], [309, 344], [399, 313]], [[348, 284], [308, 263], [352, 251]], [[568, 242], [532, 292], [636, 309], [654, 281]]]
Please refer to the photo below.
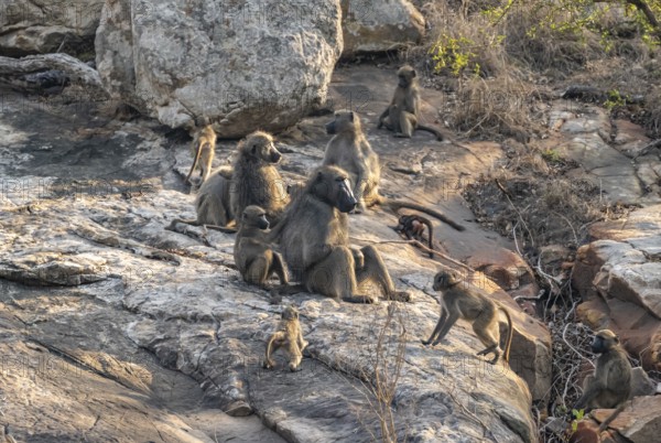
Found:
[[97, 68], [110, 94], [170, 127], [279, 130], [325, 100], [340, 17], [332, 0], [107, 1]]

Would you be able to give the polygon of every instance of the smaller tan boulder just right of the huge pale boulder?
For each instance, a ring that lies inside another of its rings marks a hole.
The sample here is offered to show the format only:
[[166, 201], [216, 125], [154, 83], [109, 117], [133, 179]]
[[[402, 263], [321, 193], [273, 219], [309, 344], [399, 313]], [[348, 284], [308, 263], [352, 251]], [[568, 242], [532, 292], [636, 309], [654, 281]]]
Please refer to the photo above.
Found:
[[420, 43], [424, 18], [409, 0], [342, 0], [343, 56]]

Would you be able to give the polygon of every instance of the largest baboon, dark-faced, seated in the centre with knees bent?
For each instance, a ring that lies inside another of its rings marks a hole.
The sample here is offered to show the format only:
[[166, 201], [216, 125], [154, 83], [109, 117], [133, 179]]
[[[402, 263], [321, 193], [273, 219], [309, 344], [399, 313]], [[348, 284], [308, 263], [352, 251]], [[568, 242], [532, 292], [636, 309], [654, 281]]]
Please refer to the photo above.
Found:
[[391, 300], [409, 301], [398, 292], [373, 246], [349, 247], [348, 216], [358, 202], [348, 174], [337, 166], [319, 166], [303, 193], [285, 212], [272, 238], [290, 270], [310, 292], [353, 303], [373, 303], [369, 283], [377, 284]]

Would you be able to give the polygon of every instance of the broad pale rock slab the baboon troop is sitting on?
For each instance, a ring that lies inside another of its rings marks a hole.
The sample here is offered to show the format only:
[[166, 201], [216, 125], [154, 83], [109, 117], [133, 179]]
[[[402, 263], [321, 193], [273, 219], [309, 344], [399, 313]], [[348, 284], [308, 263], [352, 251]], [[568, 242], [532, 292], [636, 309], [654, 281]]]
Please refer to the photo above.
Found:
[[[466, 225], [467, 233], [457, 235], [435, 223], [437, 238], [455, 260], [467, 260], [485, 248], [511, 247], [470, 223], [457, 185], [459, 173], [477, 175], [488, 169], [502, 154], [498, 145], [458, 148], [424, 133], [400, 140], [375, 128], [377, 112], [390, 99], [389, 91], [376, 86], [392, 82], [393, 73], [340, 69], [332, 90], [337, 107], [351, 97], [366, 98], [356, 110], [386, 166], [383, 192], [405, 194]], [[372, 84], [373, 89], [362, 87]], [[435, 94], [429, 91], [431, 102]], [[307, 293], [285, 298], [285, 303], [300, 306], [311, 345], [301, 372], [289, 372], [280, 355], [275, 370], [263, 370], [264, 339], [281, 306], [269, 304], [268, 293], [240, 280], [231, 257], [232, 236], [194, 227], [189, 236], [163, 229], [174, 217], [193, 215], [194, 195], [187, 194], [177, 173], [189, 166], [188, 141], [150, 121], [119, 123], [95, 112], [52, 115], [36, 106], [25, 111], [13, 106], [17, 102], [8, 100], [0, 126], [0, 173], [8, 177], [0, 213], [3, 355], [20, 356], [36, 343], [78, 365], [90, 383], [78, 385], [79, 378], [67, 372], [57, 379], [57, 390], [18, 401], [30, 392], [21, 390], [25, 376], [1, 375], [3, 392], [11, 390], [3, 420], [17, 437], [33, 441], [29, 433], [34, 432], [43, 433], [42, 441], [86, 435], [100, 442], [108, 434], [121, 440], [123, 431], [108, 426], [118, 410], [129, 408], [127, 420], [142, 414], [156, 423], [136, 431], [144, 441], [165, 439], [159, 432], [172, 440], [186, 441], [187, 433], [198, 439], [191, 441], [215, 441], [213, 421], [203, 419], [220, 411], [236, 415], [231, 420], [256, 413], [290, 442], [360, 442], [371, 441], [372, 432], [378, 435], [369, 403], [371, 385], [361, 380], [373, 379], [375, 339], [384, 327], [389, 303], [354, 305]], [[430, 109], [429, 104], [423, 107]], [[280, 136], [288, 181], [302, 180], [321, 160], [326, 120], [305, 119]], [[235, 145], [219, 143], [216, 163], [226, 162]], [[420, 165], [421, 172], [411, 175], [388, 168], [402, 161]], [[517, 311], [512, 369], [523, 379], [476, 357], [480, 344], [463, 322], [445, 343], [423, 347], [420, 338], [426, 338], [438, 316], [437, 295], [431, 291], [438, 264], [397, 242], [389, 227], [395, 220], [381, 208], [351, 216], [350, 236], [357, 245], [387, 241], [377, 247], [397, 287], [413, 298], [412, 303], [395, 304], [395, 323], [383, 335], [387, 358], [381, 361], [388, 366], [382, 374], [393, 370], [398, 346], [404, 350], [392, 402], [400, 439], [535, 441], [530, 402], [549, 389], [548, 332], [478, 273], [475, 278], [486, 291]], [[35, 350], [40, 352], [45, 353]], [[165, 388], [173, 382], [162, 374], [185, 380], [177, 389], [189, 397], [175, 391], [172, 398], [181, 399], [181, 408], [193, 410], [194, 417], [173, 403], [148, 408], [153, 396], [170, 398]], [[108, 383], [106, 379], [117, 385], [121, 400], [95, 396], [97, 389], [109, 388], [91, 383]], [[189, 388], [195, 387], [193, 380], [201, 389]], [[54, 398], [73, 409], [54, 409]], [[94, 408], [88, 407], [90, 398], [96, 399]], [[43, 426], [36, 418], [24, 420], [41, 410], [50, 418]], [[236, 422], [228, 425], [237, 429]]]

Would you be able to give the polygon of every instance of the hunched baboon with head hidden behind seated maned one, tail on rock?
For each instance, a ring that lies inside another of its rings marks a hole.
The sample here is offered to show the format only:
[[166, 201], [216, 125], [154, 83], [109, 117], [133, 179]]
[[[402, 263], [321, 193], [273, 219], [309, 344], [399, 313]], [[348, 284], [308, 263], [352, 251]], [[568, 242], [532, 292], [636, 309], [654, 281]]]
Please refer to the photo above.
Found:
[[234, 222], [235, 216], [229, 205], [232, 170], [230, 166], [220, 166], [202, 183], [195, 198], [196, 219], [175, 218], [167, 229], [173, 230], [177, 223], [192, 226], [235, 233], [234, 229], [224, 228]]

